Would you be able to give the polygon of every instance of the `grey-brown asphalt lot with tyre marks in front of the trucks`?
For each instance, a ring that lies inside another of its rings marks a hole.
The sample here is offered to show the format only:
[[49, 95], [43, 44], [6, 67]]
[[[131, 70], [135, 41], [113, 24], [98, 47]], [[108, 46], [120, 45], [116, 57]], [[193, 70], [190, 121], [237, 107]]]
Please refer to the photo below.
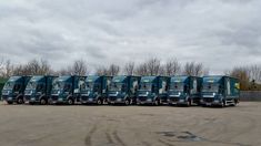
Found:
[[261, 102], [235, 107], [7, 105], [2, 146], [260, 146]]

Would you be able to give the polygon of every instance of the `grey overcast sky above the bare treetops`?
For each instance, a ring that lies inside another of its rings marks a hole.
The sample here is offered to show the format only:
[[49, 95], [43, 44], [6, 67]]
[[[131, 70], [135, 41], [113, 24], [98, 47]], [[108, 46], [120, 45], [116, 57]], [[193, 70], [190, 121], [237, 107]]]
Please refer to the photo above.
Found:
[[0, 53], [58, 69], [175, 56], [223, 73], [261, 63], [261, 0], [0, 0]]

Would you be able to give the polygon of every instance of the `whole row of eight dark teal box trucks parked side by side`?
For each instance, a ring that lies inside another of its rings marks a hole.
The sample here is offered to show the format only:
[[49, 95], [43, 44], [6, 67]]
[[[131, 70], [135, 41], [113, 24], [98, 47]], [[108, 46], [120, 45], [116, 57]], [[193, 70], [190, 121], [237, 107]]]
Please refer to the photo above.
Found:
[[8, 104], [169, 104], [227, 106], [239, 103], [230, 76], [12, 76], [2, 90]]

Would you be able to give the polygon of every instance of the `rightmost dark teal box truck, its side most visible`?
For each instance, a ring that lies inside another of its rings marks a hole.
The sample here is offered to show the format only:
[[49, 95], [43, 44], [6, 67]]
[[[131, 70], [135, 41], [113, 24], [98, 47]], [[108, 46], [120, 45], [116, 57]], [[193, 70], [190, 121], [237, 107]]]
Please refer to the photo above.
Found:
[[239, 80], [230, 76], [203, 76], [201, 94], [203, 106], [237, 105], [240, 95]]

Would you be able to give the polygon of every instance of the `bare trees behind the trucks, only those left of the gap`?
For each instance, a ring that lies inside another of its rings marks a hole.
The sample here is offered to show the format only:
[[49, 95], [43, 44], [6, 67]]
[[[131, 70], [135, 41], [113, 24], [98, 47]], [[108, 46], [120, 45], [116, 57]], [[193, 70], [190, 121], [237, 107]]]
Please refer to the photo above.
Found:
[[[51, 67], [47, 60], [33, 59], [26, 64], [13, 64], [10, 60], [0, 61], [0, 76], [9, 77], [11, 75], [87, 75], [91, 70], [88, 67], [88, 63], [84, 60], [76, 60], [71, 65], [63, 66], [60, 70]], [[93, 72], [93, 71], [92, 71]], [[157, 58], [145, 60], [140, 64], [134, 62], [128, 62], [123, 66], [118, 64], [109, 64], [108, 66], [100, 65], [94, 69], [97, 75], [207, 75], [209, 71], [202, 63], [187, 62], [182, 65], [175, 58], [169, 59], [167, 62], [162, 62]]]

